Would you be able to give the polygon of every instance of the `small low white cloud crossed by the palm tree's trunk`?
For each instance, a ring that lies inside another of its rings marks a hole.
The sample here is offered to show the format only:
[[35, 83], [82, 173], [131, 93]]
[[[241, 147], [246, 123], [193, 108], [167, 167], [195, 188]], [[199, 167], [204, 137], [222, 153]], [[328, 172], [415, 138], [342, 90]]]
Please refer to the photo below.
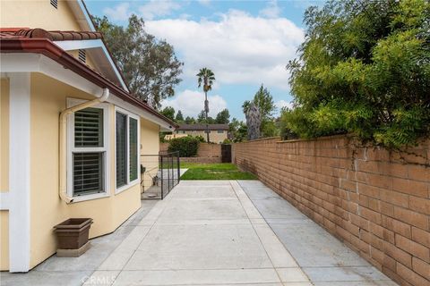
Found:
[[[209, 115], [212, 117], [215, 117], [221, 110], [227, 108], [226, 101], [219, 95], [208, 95], [208, 100], [210, 110]], [[184, 116], [193, 116], [195, 118], [204, 108], [204, 93], [196, 90], [185, 89], [176, 97], [163, 100], [161, 105], [163, 108], [166, 106], [172, 106], [175, 108], [176, 112], [181, 110]]]

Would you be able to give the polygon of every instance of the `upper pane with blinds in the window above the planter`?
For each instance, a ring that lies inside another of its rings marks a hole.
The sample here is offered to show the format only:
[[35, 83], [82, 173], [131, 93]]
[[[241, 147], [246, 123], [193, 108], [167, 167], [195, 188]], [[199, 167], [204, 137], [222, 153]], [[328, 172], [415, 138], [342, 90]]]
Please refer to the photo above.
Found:
[[103, 109], [85, 108], [74, 113], [74, 147], [103, 147]]

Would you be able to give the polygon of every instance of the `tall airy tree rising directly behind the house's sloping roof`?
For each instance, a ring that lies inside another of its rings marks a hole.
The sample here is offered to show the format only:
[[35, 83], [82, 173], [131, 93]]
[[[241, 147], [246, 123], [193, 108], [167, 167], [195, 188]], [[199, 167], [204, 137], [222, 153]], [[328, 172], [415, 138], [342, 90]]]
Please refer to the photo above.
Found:
[[144, 21], [136, 15], [125, 28], [109, 22], [106, 16], [93, 20], [135, 97], [159, 108], [163, 99], [175, 95], [183, 63], [176, 58], [173, 46], [148, 34]]

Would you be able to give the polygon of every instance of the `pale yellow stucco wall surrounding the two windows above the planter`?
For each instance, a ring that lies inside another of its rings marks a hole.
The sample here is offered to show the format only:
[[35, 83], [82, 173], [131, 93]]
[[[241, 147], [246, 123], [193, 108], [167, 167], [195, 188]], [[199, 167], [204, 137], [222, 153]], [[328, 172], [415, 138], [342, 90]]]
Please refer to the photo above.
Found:
[[[56, 252], [54, 225], [69, 217], [90, 217], [90, 238], [115, 231], [140, 206], [139, 184], [116, 194], [115, 106], [109, 106], [107, 166], [110, 189], [106, 198], [66, 205], [58, 196], [58, 118], [68, 97], [92, 99], [89, 94], [39, 73], [31, 74], [30, 100], [30, 267]], [[156, 139], [159, 139], [156, 134]], [[2, 235], [3, 236], [3, 235]], [[3, 238], [2, 238], [3, 240]]]

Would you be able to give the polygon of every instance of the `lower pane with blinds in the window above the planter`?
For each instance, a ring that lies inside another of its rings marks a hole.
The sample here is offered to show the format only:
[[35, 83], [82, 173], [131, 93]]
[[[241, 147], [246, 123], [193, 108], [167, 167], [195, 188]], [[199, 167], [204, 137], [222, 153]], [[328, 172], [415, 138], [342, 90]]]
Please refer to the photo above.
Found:
[[73, 153], [73, 196], [103, 191], [103, 152]]

